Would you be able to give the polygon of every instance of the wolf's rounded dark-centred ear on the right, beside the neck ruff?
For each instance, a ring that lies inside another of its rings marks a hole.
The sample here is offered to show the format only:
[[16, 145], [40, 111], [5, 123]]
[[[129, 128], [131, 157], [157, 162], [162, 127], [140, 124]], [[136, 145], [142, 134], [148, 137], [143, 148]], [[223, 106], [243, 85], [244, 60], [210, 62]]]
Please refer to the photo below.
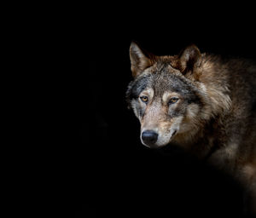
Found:
[[190, 45], [179, 54], [179, 68], [183, 74], [195, 72], [201, 64], [201, 52], [194, 45]]

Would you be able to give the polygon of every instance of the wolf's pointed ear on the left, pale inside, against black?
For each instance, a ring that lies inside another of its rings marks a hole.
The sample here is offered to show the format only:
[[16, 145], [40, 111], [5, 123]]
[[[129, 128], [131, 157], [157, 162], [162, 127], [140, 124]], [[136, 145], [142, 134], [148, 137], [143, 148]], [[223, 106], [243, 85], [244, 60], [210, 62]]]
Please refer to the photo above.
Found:
[[[152, 66], [154, 60], [150, 59], [149, 54], [143, 52], [139, 48], [137, 43], [131, 42], [130, 46], [130, 60], [131, 60], [131, 72], [133, 77], [140, 75], [146, 68]], [[152, 56], [152, 54], [150, 54]]]

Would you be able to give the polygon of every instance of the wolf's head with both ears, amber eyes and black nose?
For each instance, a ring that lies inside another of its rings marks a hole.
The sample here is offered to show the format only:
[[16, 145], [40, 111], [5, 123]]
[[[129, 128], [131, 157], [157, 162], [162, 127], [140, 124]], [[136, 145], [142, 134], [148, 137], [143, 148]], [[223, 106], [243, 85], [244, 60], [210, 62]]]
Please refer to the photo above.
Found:
[[198, 78], [201, 53], [191, 45], [174, 56], [155, 56], [130, 47], [131, 72], [127, 100], [141, 123], [141, 141], [149, 147], [193, 135], [204, 105]]

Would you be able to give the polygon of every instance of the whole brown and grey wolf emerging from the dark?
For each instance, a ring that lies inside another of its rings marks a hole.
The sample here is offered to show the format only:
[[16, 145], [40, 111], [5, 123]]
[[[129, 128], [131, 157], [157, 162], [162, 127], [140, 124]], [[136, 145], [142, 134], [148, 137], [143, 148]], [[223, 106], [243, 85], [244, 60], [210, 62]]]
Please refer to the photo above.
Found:
[[130, 46], [133, 80], [126, 100], [141, 123], [144, 146], [182, 146], [241, 181], [256, 215], [256, 65], [201, 53], [176, 55]]

